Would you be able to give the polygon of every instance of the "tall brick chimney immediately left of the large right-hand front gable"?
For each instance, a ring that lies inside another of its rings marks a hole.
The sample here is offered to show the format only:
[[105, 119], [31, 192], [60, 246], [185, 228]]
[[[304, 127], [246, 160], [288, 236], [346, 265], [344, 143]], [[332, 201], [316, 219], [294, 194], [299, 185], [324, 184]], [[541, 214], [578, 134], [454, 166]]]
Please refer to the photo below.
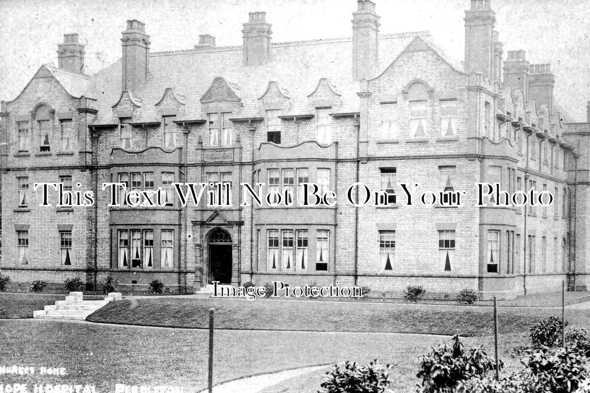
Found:
[[352, 76], [355, 80], [373, 76], [379, 60], [379, 15], [375, 3], [358, 0], [352, 13]]

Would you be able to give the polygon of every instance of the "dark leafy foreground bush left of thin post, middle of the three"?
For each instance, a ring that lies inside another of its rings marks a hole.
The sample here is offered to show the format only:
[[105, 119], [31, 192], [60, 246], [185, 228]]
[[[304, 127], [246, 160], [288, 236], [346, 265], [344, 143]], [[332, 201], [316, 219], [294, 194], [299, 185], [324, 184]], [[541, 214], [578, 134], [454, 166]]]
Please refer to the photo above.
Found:
[[[499, 365], [503, 368], [502, 362]], [[465, 351], [459, 336], [454, 336], [452, 348], [446, 344], [432, 348], [420, 357], [420, 367], [416, 375], [422, 379], [419, 391], [446, 393], [454, 391], [460, 381], [486, 376], [496, 368], [496, 362], [481, 347]]]

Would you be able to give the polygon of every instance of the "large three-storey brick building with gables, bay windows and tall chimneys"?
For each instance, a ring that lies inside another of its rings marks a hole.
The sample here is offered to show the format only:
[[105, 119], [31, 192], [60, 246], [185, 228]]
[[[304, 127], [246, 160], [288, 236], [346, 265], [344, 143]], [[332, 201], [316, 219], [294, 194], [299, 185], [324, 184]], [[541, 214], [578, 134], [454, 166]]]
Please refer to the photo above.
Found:
[[[525, 51], [504, 60], [490, 0], [466, 11], [462, 64], [426, 32], [379, 34], [376, 12], [358, 1], [352, 39], [281, 43], [253, 12], [240, 47], [204, 34], [161, 53], [134, 19], [122, 59], [94, 75], [78, 35], [65, 35], [58, 67], [41, 66], [2, 101], [3, 273], [88, 287], [114, 276], [127, 289], [159, 279], [183, 292], [276, 279], [389, 293], [422, 284], [438, 296], [514, 297], [563, 279], [585, 289], [590, 128], [562, 121], [550, 66], [529, 64]], [[101, 185], [117, 181], [162, 187], [167, 203], [107, 207]], [[173, 196], [173, 182], [219, 181], [231, 182], [231, 207], [182, 207]], [[93, 191], [96, 203], [40, 207], [38, 182]], [[295, 205], [242, 207], [239, 184], [257, 182]], [[298, 206], [301, 182], [339, 203]], [[355, 182], [388, 205], [346, 203]], [[460, 207], [407, 206], [398, 185], [419, 184], [419, 195], [477, 182], [545, 189], [556, 202], [480, 208], [468, 192]]]

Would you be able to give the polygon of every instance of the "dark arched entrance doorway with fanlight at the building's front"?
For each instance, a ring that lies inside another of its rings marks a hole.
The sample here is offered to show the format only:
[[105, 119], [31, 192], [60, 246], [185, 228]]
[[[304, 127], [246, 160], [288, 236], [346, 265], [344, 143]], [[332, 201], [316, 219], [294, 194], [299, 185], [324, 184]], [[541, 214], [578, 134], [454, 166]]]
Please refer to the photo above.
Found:
[[231, 284], [231, 235], [223, 228], [214, 228], [209, 232], [207, 248], [209, 250], [208, 283], [219, 281], [221, 284]]

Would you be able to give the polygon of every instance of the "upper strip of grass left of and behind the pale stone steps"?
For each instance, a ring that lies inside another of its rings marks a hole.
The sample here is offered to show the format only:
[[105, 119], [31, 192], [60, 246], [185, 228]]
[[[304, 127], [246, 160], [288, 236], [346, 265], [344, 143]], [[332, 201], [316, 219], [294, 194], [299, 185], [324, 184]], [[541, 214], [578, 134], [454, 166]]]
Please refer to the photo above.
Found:
[[[103, 296], [86, 296], [84, 299], [103, 299]], [[32, 318], [34, 310], [42, 310], [56, 300], [64, 300], [65, 294], [0, 293], [0, 319]]]

